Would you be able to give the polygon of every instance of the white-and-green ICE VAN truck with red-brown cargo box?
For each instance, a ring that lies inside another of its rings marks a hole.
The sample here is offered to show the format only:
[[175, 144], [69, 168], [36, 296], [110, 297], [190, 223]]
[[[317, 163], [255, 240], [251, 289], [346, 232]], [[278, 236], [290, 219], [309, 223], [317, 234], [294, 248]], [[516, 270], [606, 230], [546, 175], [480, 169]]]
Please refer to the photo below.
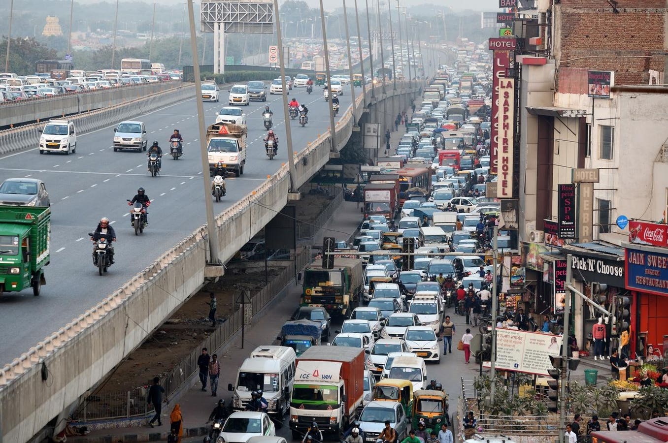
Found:
[[290, 400], [290, 430], [301, 440], [313, 422], [339, 435], [357, 416], [364, 394], [365, 352], [347, 346], [313, 346], [297, 359]]

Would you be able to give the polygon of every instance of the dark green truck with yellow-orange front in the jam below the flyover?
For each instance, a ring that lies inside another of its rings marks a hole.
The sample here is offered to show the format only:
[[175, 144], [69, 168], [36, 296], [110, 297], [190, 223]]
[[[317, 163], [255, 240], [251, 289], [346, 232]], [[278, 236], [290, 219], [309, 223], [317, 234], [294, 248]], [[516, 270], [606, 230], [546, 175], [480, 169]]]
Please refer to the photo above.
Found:
[[334, 268], [323, 269], [321, 260], [303, 273], [300, 306], [323, 306], [331, 315], [345, 315], [362, 290], [362, 262], [357, 258], [334, 260]]

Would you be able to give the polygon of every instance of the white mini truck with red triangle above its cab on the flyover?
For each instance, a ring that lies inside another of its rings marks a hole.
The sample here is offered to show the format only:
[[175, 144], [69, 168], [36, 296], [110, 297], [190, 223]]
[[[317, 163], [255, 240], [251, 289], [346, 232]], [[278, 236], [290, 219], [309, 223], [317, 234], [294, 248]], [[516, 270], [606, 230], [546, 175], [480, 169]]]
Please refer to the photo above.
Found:
[[206, 151], [209, 171], [218, 161], [237, 177], [244, 173], [246, 164], [246, 125], [214, 123], [206, 129]]

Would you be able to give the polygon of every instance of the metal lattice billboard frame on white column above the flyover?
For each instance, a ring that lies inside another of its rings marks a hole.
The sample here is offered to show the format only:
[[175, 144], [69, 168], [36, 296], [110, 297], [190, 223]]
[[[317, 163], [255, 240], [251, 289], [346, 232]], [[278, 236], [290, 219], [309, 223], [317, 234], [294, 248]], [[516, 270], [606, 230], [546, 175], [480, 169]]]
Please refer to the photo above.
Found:
[[213, 33], [213, 70], [225, 69], [225, 34], [274, 32], [273, 0], [205, 0], [200, 7], [200, 31]]

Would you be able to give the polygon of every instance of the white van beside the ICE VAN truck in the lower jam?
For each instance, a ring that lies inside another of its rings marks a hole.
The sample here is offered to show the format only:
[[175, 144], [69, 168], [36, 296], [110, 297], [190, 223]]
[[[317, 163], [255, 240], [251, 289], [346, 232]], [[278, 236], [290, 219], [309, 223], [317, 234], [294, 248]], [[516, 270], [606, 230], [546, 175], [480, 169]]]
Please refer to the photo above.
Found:
[[262, 390], [269, 403], [269, 415], [283, 419], [290, 408], [290, 394], [295, 384], [297, 354], [287, 346], [259, 346], [251, 352], [236, 373], [236, 386], [228, 384], [232, 394], [232, 408], [242, 411], [251, 401], [253, 391]]

